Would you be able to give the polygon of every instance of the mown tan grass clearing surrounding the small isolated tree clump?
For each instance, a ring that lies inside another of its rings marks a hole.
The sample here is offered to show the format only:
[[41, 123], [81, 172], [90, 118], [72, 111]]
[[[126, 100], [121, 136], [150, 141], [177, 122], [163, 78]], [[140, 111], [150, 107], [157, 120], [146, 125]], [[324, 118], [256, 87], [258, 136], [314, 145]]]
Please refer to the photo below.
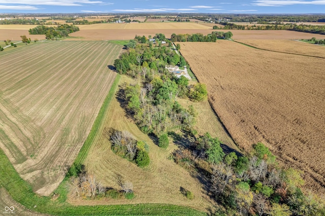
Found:
[[[134, 83], [131, 78], [122, 76], [120, 85]], [[116, 95], [118, 97], [118, 95]], [[86, 169], [94, 173], [104, 186], [119, 189], [116, 182], [116, 174], [120, 174], [125, 181], [134, 185], [136, 197], [132, 200], [110, 199], [102, 201], [80, 201], [70, 198], [73, 204], [136, 204], [136, 203], [161, 203], [189, 206], [195, 209], [207, 211], [212, 207], [213, 201], [205, 194], [205, 187], [195, 174], [190, 174], [173, 160], [169, 160], [170, 153], [178, 148], [172, 142], [168, 150], [162, 150], [152, 140], [142, 133], [132, 119], [126, 117], [124, 109], [120, 106], [120, 98], [111, 101], [106, 110], [103, 124], [99, 127], [94, 137], [87, 158], [84, 162]], [[114, 154], [110, 148], [110, 141], [105, 133], [106, 129], [127, 130], [137, 140], [144, 140], [149, 145], [150, 164], [142, 169], [135, 164], [122, 159]], [[188, 200], [180, 192], [183, 187], [194, 193], [194, 199]]]

